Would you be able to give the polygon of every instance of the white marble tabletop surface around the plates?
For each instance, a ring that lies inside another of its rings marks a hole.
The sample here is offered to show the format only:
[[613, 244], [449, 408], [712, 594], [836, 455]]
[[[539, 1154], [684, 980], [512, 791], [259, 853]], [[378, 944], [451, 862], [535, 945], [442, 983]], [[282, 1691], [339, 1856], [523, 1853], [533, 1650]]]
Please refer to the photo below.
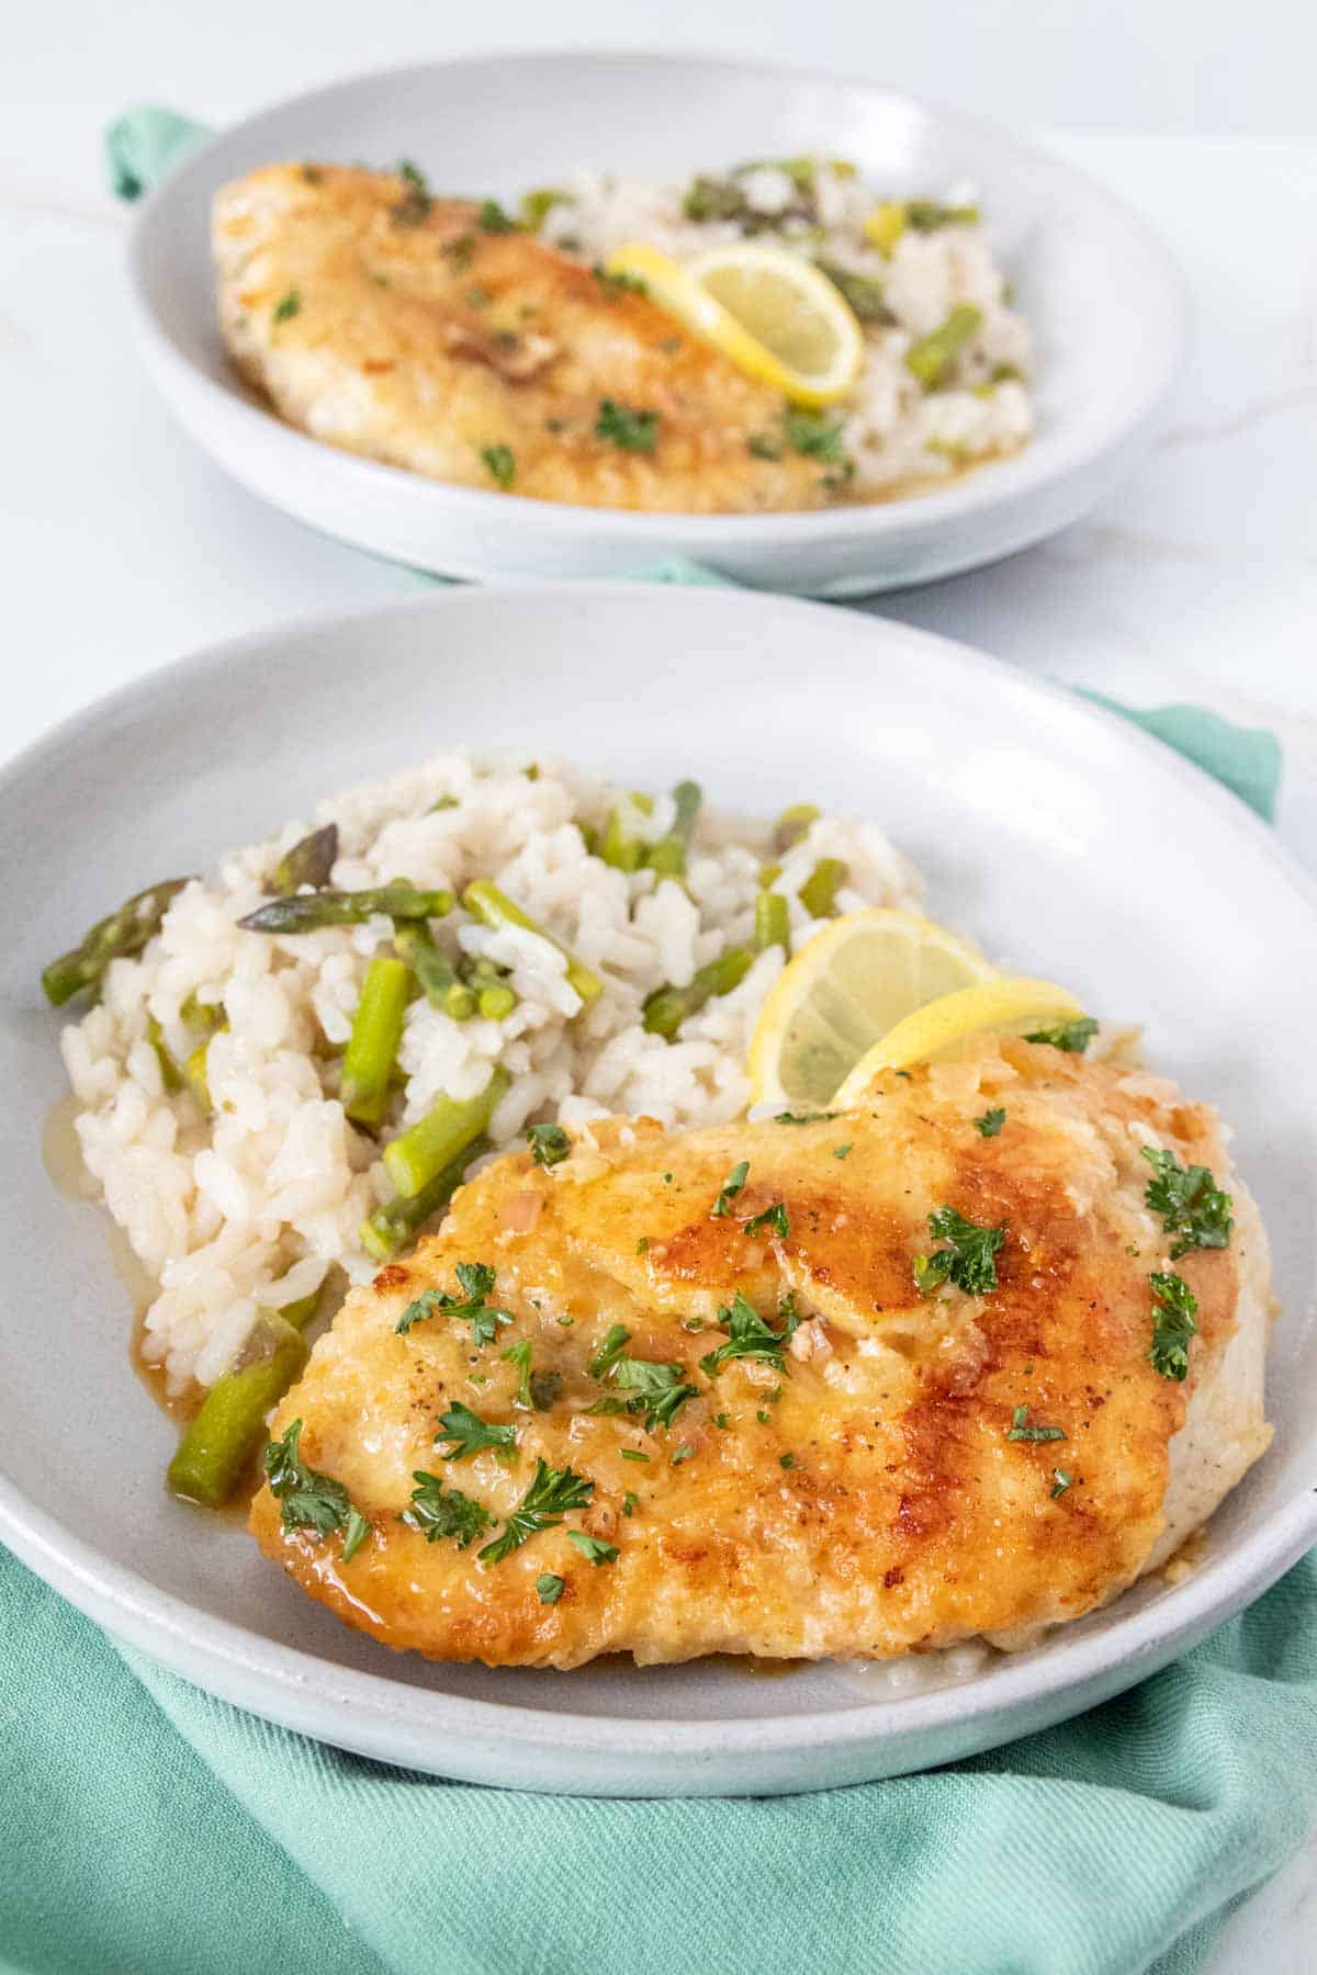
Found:
[[[99, 180], [113, 85], [89, 81], [85, 51], [67, 59], [65, 109], [26, 97], [0, 118], [0, 754], [178, 652], [417, 581], [267, 514], [170, 425], [128, 346], [126, 215]], [[237, 107], [199, 55], [178, 75], [180, 101]], [[1279, 830], [1317, 869], [1317, 144], [1054, 142], [1179, 253], [1197, 300], [1183, 387], [1145, 468], [1090, 521], [875, 608], [1143, 705], [1272, 725]], [[1210, 1965], [1317, 1965], [1317, 1843], [1230, 1920]]]

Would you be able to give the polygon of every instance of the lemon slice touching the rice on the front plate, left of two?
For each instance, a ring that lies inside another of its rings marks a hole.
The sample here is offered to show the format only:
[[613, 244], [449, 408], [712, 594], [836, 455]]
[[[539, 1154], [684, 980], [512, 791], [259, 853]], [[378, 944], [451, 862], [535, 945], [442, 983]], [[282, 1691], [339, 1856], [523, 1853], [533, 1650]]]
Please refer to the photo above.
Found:
[[778, 976], [750, 1039], [754, 1104], [831, 1106], [833, 1092], [914, 1009], [995, 980], [973, 946], [918, 912], [829, 918]]

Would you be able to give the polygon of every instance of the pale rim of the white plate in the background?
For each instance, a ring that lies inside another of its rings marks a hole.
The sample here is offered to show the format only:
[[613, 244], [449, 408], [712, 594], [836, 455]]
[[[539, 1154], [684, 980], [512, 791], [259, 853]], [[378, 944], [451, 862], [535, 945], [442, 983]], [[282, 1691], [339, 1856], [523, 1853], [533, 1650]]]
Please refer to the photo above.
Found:
[[[656, 73], [659, 69], [699, 65], [709, 71], [760, 77], [784, 85], [819, 85], [825, 89], [865, 93], [869, 97], [881, 97], [887, 103], [912, 109], [936, 120], [962, 126], [971, 138], [977, 132], [989, 142], [1015, 152], [1021, 164], [1033, 162], [1037, 166], [1045, 166], [1048, 172], [1064, 174], [1090, 201], [1102, 205], [1129, 235], [1139, 239], [1147, 255], [1149, 273], [1155, 275], [1159, 304], [1155, 310], [1149, 308], [1149, 322], [1155, 318], [1153, 328], [1157, 330], [1157, 340], [1149, 342], [1153, 361], [1149, 361], [1139, 379], [1135, 379], [1135, 389], [1125, 389], [1123, 399], [1110, 407], [1100, 434], [1084, 444], [1076, 444], [1072, 438], [1062, 438], [1054, 456], [1052, 442], [1048, 442], [1046, 450], [1041, 450], [1039, 440], [1035, 438], [1021, 452], [1005, 460], [989, 460], [979, 472], [968, 474], [950, 488], [924, 492], [912, 498], [871, 502], [853, 508], [790, 510], [786, 514], [764, 515], [703, 515], [681, 512], [638, 514], [626, 508], [588, 508], [575, 502], [531, 500], [523, 494], [502, 494], [486, 488], [468, 488], [444, 480], [430, 480], [405, 466], [389, 466], [383, 460], [363, 458], [332, 446], [326, 440], [312, 438], [308, 433], [286, 425], [274, 411], [269, 411], [249, 401], [241, 391], [219, 383], [207, 369], [194, 363], [192, 357], [178, 348], [170, 332], [156, 316], [148, 292], [148, 263], [154, 253], [154, 227], [164, 201], [174, 194], [176, 186], [194, 174], [201, 174], [211, 152], [219, 144], [245, 132], [249, 126], [265, 120], [267, 117], [278, 117], [284, 111], [304, 109], [334, 97], [344, 97], [361, 85], [387, 85], [403, 77], [415, 77], [430, 71], [448, 73], [456, 69], [496, 69], [507, 61], [543, 65], [584, 63], [598, 67], [604, 67], [606, 63], [632, 61]], [[280, 97], [274, 103], [261, 105], [237, 122], [215, 130], [203, 144], [188, 150], [142, 201], [128, 239], [128, 302], [138, 344], [146, 352], [148, 365], [160, 365], [176, 377], [182, 377], [190, 389], [203, 395], [205, 403], [213, 407], [219, 417], [231, 417], [241, 431], [251, 434], [253, 444], [265, 442], [274, 446], [294, 468], [302, 466], [312, 470], [314, 462], [324, 464], [324, 456], [330, 454], [334, 470], [340, 472], [342, 482], [349, 488], [357, 488], [361, 498], [411, 498], [419, 508], [430, 508], [436, 517], [440, 512], [456, 512], [458, 515], [466, 515], [470, 521], [480, 521], [480, 517], [492, 515], [496, 512], [492, 504], [498, 502], [498, 512], [507, 515], [509, 521], [515, 521], [521, 527], [531, 527], [541, 535], [573, 535], [592, 527], [606, 529], [620, 541], [634, 541], [638, 547], [644, 547], [650, 541], [671, 541], [673, 531], [679, 531], [683, 535], [691, 535], [691, 553], [695, 555], [705, 551], [717, 553], [719, 549], [752, 549], [756, 545], [766, 545], [770, 535], [780, 535], [784, 543], [792, 547], [804, 547], [823, 537], [829, 541], [853, 541], [857, 537], [873, 541], [900, 541], [900, 537], [908, 531], [924, 533], [926, 527], [936, 527], [938, 523], [954, 525], [956, 521], [971, 515], [981, 515], [983, 512], [995, 512], [999, 508], [1007, 510], [1013, 502], [1037, 498], [1048, 488], [1066, 484], [1084, 468], [1092, 468], [1098, 462], [1108, 460], [1114, 452], [1147, 429], [1177, 379], [1189, 334], [1187, 276], [1177, 259], [1171, 255], [1161, 233], [1137, 211], [1137, 207], [1122, 199], [1120, 194], [1104, 186], [1102, 180], [1094, 178], [1082, 166], [1070, 164], [1068, 158], [1058, 156], [1045, 144], [1037, 144], [1029, 136], [1017, 136], [1009, 124], [942, 105], [928, 97], [910, 95], [908, 91], [887, 89], [883, 83], [871, 81], [867, 75], [847, 77], [827, 69], [802, 69], [790, 63], [740, 61], [729, 55], [701, 53], [697, 49], [624, 49], [602, 45], [567, 49], [537, 45], [432, 57], [426, 61], [387, 63], [377, 69], [357, 71], [355, 75], [340, 77], [314, 89]], [[267, 494], [261, 494], [261, 498], [269, 500]], [[1043, 533], [1046, 533], [1046, 529]]]

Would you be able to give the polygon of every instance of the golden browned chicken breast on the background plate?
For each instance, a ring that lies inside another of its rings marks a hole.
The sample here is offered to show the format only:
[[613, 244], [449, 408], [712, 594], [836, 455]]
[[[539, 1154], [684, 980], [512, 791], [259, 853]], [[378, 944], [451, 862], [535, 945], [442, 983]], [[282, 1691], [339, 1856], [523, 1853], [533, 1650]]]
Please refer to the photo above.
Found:
[[393, 172], [251, 172], [213, 207], [233, 361], [290, 425], [432, 480], [665, 514], [833, 498], [835, 474], [782, 444], [776, 393], [505, 227]]

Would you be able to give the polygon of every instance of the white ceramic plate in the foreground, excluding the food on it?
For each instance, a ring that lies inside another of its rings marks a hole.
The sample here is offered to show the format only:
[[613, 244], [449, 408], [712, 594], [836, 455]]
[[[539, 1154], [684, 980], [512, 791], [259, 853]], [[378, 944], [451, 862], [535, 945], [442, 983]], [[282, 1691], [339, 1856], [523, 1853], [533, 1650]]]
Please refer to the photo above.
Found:
[[[1285, 1315], [1276, 1446], [1206, 1558], [954, 1689], [833, 1665], [434, 1667], [346, 1631], [233, 1527], [170, 1501], [174, 1430], [128, 1369], [99, 1211], [55, 1193], [63, 1092], [38, 970], [142, 883], [452, 743], [563, 752], [719, 804], [817, 796], [918, 859], [989, 954], [1147, 1023], [1238, 1128]], [[1151, 1673], [1317, 1539], [1317, 908], [1216, 784], [1072, 695], [898, 624], [721, 591], [454, 591], [247, 638], [69, 721], [0, 776], [0, 1537], [113, 1631], [272, 1720], [411, 1768], [626, 1795], [784, 1791], [940, 1764]]]

